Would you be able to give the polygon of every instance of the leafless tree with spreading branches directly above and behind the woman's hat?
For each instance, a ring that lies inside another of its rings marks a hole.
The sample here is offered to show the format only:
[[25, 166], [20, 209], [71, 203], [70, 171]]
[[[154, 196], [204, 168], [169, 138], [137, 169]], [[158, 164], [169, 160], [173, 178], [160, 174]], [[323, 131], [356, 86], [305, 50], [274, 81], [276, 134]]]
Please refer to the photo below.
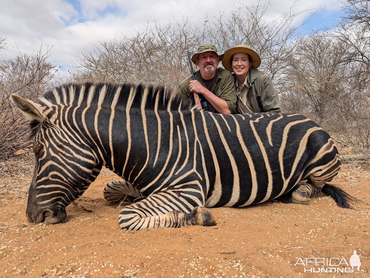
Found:
[[272, 10], [270, 1], [257, 1], [253, 5], [240, 4], [231, 15], [221, 13], [218, 18], [206, 20], [205, 36], [214, 41], [222, 51], [238, 44], [251, 46], [261, 57], [259, 70], [265, 72], [279, 92], [289, 89], [286, 68], [292, 64], [297, 41], [302, 37], [300, 27], [309, 20], [293, 24], [296, 17], [313, 8], [289, 12], [272, 20], [266, 20]]

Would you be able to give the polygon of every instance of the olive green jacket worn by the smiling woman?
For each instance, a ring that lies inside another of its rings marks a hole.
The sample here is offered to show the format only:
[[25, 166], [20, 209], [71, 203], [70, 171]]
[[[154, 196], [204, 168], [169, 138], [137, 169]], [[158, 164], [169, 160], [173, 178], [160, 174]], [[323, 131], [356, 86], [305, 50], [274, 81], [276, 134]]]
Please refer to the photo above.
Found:
[[[272, 85], [271, 79], [258, 69], [250, 69], [240, 92], [238, 81], [235, 77], [236, 109], [239, 113], [277, 112], [281, 113], [280, 100], [277, 91]], [[248, 101], [248, 103], [245, 103]], [[250, 109], [249, 109], [250, 110]]]

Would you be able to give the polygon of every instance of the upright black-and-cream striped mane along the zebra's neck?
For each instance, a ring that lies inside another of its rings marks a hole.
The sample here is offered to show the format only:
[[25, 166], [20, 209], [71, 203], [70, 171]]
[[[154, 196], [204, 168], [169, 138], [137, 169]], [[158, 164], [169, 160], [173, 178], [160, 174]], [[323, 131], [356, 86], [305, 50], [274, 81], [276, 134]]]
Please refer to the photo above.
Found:
[[46, 106], [124, 106], [144, 110], [184, 110], [191, 104], [173, 96], [164, 86], [130, 83], [68, 83], [49, 90], [40, 98]]

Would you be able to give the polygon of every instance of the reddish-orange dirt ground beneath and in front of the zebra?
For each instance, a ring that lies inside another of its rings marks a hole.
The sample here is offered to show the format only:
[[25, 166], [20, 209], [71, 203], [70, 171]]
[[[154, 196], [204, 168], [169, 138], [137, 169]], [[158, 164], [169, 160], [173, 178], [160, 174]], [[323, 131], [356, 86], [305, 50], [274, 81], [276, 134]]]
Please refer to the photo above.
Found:
[[[106, 169], [77, 207], [67, 207], [65, 223], [29, 223], [33, 157], [23, 155], [0, 164], [0, 277], [369, 277], [368, 170], [364, 164], [343, 164], [332, 182], [358, 199], [351, 210], [319, 193], [309, 206], [284, 198], [240, 209], [213, 208], [218, 223], [213, 227], [134, 232], [118, 226], [124, 203], [103, 198], [105, 184], [119, 179]], [[364, 249], [363, 273], [330, 273], [351, 270], [345, 262], [350, 264], [353, 250], [359, 255]], [[306, 265], [306, 258], [325, 262], [315, 267]], [[339, 267], [311, 272], [320, 265], [327, 269], [330, 258]]]

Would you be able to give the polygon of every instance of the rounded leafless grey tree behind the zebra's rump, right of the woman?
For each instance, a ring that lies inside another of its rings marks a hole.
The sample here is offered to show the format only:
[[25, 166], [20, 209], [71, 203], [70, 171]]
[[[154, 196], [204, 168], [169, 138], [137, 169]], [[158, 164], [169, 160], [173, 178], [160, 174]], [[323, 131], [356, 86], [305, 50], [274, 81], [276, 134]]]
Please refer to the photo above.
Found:
[[330, 108], [336, 106], [341, 96], [341, 81], [346, 72], [343, 64], [345, 47], [340, 42], [333, 43], [320, 32], [299, 42], [287, 71], [290, 90], [283, 96], [292, 99], [291, 94], [296, 95], [305, 105], [286, 102], [287, 110], [310, 114], [319, 122], [332, 113]]

